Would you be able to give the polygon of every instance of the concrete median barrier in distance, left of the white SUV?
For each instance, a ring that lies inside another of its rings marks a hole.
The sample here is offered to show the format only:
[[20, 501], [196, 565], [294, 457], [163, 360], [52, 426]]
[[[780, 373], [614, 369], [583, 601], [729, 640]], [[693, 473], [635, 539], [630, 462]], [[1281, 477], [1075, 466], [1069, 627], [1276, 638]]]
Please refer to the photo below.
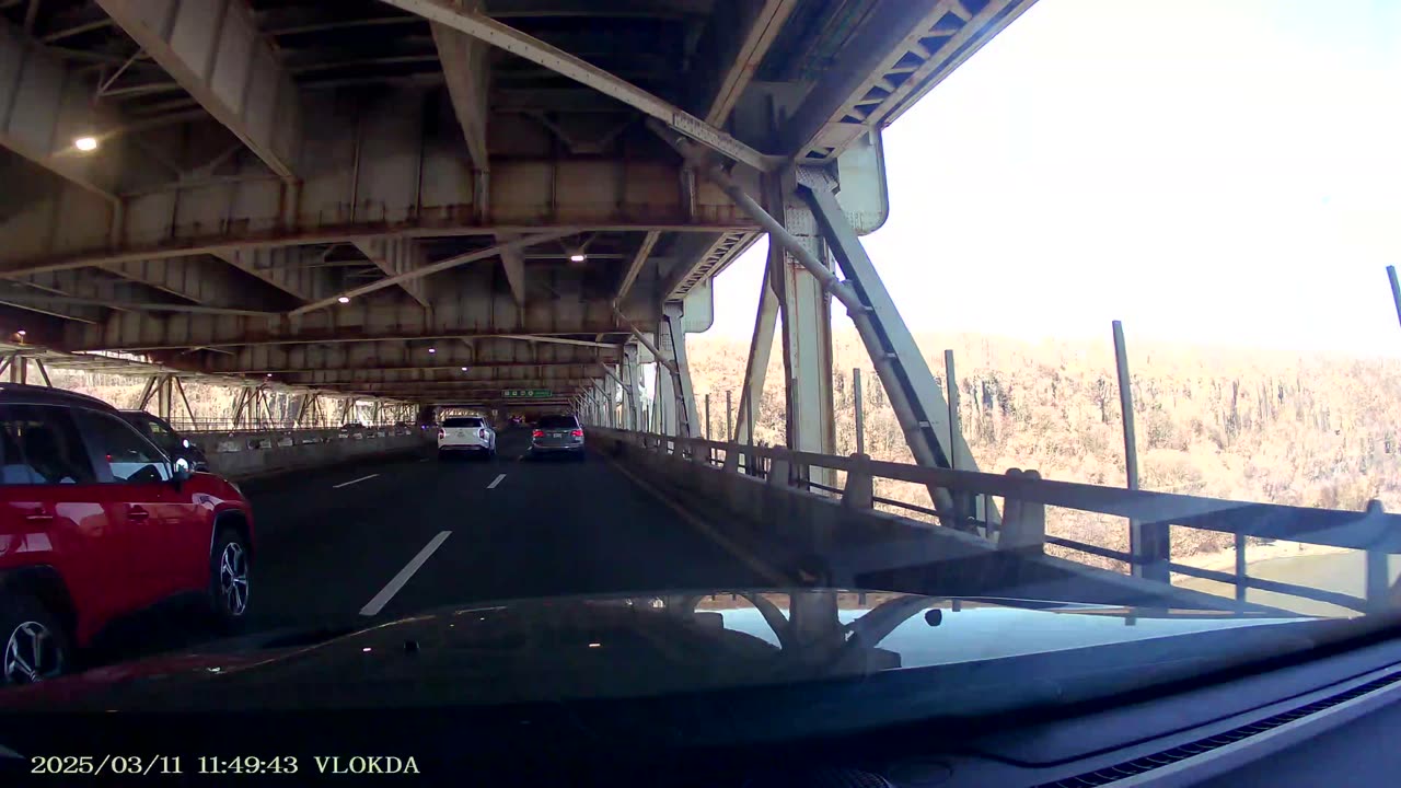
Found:
[[231, 480], [248, 480], [426, 450], [432, 442], [422, 435], [385, 435], [363, 440], [321, 439], [298, 443], [291, 437], [249, 437], [219, 440], [214, 451], [207, 451], [209, 467]]

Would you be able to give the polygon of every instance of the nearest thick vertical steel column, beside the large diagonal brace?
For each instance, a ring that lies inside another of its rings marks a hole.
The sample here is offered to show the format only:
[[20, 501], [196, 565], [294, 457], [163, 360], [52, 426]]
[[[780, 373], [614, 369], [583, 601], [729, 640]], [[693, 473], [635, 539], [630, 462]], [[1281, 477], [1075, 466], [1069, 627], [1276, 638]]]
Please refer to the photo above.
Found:
[[[790, 172], [764, 177], [765, 209], [782, 217], [783, 227], [813, 257], [831, 268], [827, 244], [818, 234], [813, 212], [794, 193]], [[769, 273], [783, 324], [783, 370], [786, 373], [787, 447], [815, 454], [836, 453], [836, 423], [832, 412], [832, 296], [785, 247], [769, 244]], [[831, 485], [827, 468], [813, 468], [811, 481]]]

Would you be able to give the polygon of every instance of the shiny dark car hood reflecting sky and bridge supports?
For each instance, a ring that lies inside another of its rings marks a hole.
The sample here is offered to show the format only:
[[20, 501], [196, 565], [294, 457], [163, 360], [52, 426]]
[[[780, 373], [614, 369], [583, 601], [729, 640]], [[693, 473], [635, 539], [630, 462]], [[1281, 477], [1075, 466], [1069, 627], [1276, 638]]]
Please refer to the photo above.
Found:
[[834, 589], [527, 599], [360, 630], [209, 644], [0, 691], [0, 708], [268, 711], [642, 698], [1108, 646], [1142, 646], [1122, 652], [1131, 660], [1152, 659], [1145, 655], [1167, 644], [1189, 655], [1184, 637], [1230, 630], [1236, 644], [1250, 639], [1244, 632], [1290, 639], [1307, 621]]

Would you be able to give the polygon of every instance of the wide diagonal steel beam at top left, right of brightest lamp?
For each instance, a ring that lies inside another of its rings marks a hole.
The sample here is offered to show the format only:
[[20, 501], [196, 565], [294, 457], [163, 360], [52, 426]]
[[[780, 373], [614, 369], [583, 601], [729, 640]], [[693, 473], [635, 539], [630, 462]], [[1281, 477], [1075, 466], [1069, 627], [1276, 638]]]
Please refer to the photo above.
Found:
[[280, 178], [297, 177], [301, 102], [247, 0], [97, 0]]

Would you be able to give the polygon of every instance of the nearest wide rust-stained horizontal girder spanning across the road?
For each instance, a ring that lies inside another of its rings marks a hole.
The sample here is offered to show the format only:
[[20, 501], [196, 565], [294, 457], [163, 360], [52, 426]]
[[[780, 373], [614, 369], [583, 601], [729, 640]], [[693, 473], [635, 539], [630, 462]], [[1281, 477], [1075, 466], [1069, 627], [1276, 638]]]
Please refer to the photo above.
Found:
[[[353, 118], [336, 116], [335, 107], [318, 114], [318, 144], [308, 146], [305, 156], [314, 167], [300, 191], [263, 179], [151, 192], [126, 201], [115, 230], [111, 206], [80, 189], [43, 196], [22, 213], [0, 217], [0, 271], [56, 271], [385, 234], [489, 236], [553, 227], [715, 233], [754, 227], [715, 189], [700, 191], [685, 205], [677, 188], [677, 163], [635, 158], [496, 161], [486, 201], [490, 216], [482, 219], [471, 199], [464, 203], [472, 198], [464, 157], [450, 146], [423, 143], [423, 98], [409, 98], [413, 101], [395, 94], [385, 112], [366, 119], [359, 170], [354, 146], [343, 132]], [[321, 128], [319, 115], [328, 115], [333, 128]], [[263, 170], [256, 161], [234, 164], [249, 175]], [[359, 177], [352, 178], [353, 172]], [[286, 205], [297, 206], [291, 222], [284, 216]], [[352, 205], [359, 209], [352, 212]], [[304, 296], [305, 287], [298, 292]]]

